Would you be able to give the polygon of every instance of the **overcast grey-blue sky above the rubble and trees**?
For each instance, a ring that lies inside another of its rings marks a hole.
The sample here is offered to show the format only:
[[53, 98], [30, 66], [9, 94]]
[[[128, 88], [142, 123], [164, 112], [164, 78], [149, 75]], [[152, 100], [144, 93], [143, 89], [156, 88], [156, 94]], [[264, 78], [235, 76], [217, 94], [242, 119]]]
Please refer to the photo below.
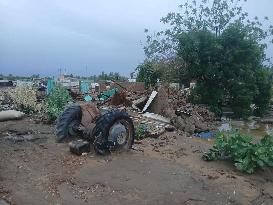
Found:
[[[160, 18], [181, 2], [0, 0], [0, 73], [128, 75], [144, 59], [144, 29], [160, 30]], [[249, 0], [247, 10], [273, 23], [272, 0]]]

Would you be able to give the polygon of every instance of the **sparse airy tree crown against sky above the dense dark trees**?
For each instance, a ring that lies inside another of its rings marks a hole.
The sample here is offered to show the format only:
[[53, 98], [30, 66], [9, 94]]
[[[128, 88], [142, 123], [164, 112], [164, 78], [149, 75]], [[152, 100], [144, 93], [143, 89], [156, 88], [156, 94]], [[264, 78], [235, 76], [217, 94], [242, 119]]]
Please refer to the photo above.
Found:
[[[265, 29], [258, 17], [248, 18], [242, 5], [247, 0], [187, 0], [179, 5], [179, 13], [168, 13], [161, 18], [167, 29], [149, 34], [144, 47], [148, 59], [169, 59], [176, 56], [182, 32], [208, 30], [219, 36], [230, 24], [241, 22], [251, 28], [252, 35], [260, 42], [273, 35], [273, 26]], [[268, 17], [264, 18], [268, 21]]]

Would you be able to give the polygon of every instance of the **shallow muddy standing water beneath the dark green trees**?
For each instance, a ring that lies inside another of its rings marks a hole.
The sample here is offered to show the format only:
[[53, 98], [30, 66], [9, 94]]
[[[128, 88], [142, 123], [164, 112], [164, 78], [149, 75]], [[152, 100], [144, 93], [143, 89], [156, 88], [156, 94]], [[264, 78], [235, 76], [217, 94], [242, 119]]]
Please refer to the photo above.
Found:
[[253, 137], [263, 137], [265, 135], [273, 135], [273, 125], [261, 123], [258, 120], [231, 120], [223, 119], [220, 131], [230, 131], [238, 129], [241, 133], [251, 135]]

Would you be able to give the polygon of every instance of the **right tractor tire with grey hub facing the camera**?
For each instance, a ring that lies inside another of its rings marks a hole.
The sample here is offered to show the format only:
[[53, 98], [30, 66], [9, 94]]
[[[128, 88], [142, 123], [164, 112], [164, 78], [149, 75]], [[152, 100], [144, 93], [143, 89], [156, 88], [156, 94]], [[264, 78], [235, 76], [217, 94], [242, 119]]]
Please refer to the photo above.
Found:
[[93, 130], [94, 149], [98, 154], [132, 148], [135, 130], [128, 113], [111, 110], [102, 115]]

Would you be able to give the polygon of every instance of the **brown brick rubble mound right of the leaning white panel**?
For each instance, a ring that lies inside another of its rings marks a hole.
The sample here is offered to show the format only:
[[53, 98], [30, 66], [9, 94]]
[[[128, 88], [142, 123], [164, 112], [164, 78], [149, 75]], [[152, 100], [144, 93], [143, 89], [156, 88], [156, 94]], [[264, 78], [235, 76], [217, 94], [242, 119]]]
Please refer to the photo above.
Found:
[[152, 93], [153, 98], [151, 102], [151, 97], [148, 100], [150, 105], [147, 111], [169, 118], [177, 129], [190, 135], [216, 130], [217, 119], [214, 113], [205, 106], [187, 103], [186, 96], [180, 91], [168, 92], [161, 86], [156, 96]]

